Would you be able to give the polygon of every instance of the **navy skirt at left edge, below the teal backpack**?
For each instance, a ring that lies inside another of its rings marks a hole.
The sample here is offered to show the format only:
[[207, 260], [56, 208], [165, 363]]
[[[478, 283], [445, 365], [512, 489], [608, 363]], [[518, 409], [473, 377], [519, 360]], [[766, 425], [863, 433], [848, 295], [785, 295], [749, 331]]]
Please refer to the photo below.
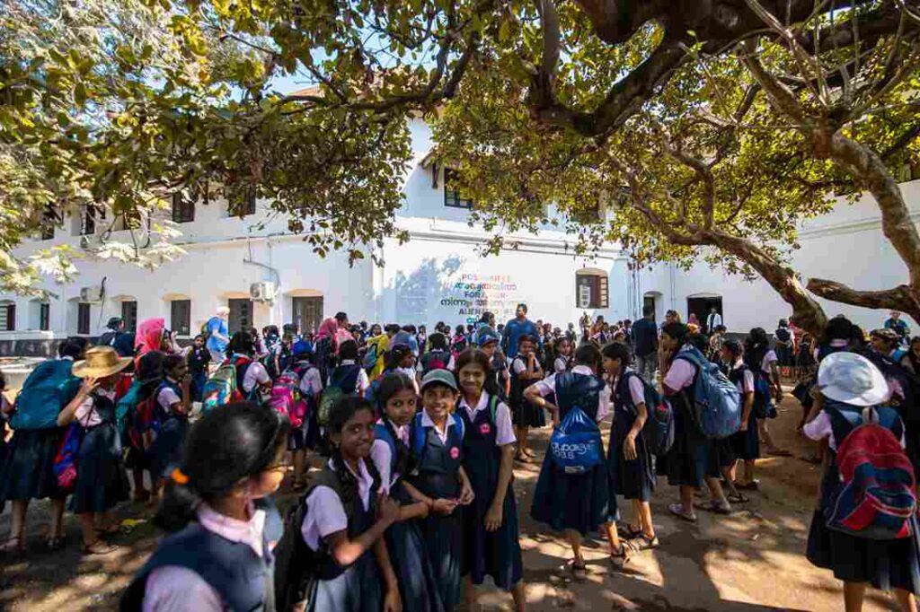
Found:
[[67, 496], [53, 470], [63, 433], [58, 427], [14, 432], [6, 445], [6, 458], [0, 463], [0, 501]]

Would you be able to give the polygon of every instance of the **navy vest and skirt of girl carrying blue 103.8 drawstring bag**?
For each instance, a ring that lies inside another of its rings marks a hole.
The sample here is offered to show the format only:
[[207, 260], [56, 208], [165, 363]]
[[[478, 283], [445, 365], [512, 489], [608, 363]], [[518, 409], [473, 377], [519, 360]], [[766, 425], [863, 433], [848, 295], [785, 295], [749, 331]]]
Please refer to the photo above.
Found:
[[[604, 380], [589, 372], [591, 368], [576, 366], [571, 372], [555, 374], [537, 383], [541, 385], [541, 394], [556, 392], [560, 421], [576, 405], [594, 421], [598, 420], [605, 385]], [[587, 473], [567, 474], [546, 453], [530, 515], [557, 531], [573, 529], [582, 536], [596, 531], [611, 517], [615, 518], [616, 498], [609, 494], [607, 466], [603, 459]]]

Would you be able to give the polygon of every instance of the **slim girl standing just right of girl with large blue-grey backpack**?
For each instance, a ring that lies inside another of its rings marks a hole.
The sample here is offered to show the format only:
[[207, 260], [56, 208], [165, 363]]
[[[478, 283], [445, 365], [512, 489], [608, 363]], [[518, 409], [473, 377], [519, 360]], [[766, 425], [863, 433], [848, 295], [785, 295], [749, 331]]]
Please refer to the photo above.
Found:
[[[760, 436], [757, 435], [757, 418], [753, 410], [753, 372], [744, 363], [742, 344], [737, 340], [724, 342], [721, 353], [729, 380], [742, 394], [742, 426], [737, 433], [719, 440], [719, 463], [729, 489], [728, 500], [731, 503], [744, 503], [748, 499], [740, 491], [756, 490], [753, 468], [756, 459], [760, 459]], [[739, 460], [744, 462], [742, 480], [735, 478], [735, 466]]]

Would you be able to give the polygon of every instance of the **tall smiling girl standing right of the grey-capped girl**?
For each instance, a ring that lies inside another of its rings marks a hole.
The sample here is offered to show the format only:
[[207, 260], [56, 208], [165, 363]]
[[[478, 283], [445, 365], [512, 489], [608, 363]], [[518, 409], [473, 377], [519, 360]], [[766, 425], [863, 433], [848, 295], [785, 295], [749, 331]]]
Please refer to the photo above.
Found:
[[475, 497], [463, 509], [467, 605], [476, 603], [476, 584], [486, 576], [510, 591], [518, 610], [527, 607], [522, 580], [517, 503], [512, 489], [514, 430], [511, 410], [484, 390], [489, 357], [468, 349], [457, 359], [464, 421], [464, 469]]

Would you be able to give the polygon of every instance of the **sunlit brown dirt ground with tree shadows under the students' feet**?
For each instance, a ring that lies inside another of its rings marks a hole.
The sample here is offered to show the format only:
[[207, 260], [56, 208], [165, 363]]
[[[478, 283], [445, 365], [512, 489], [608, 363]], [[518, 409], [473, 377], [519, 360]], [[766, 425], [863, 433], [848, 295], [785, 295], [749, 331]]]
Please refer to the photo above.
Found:
[[[804, 557], [819, 468], [800, 459], [811, 448], [795, 431], [801, 409], [787, 398], [769, 425], [791, 458], [758, 461], [761, 492], [736, 505], [730, 516], [699, 512], [696, 525], [674, 520], [667, 504], [676, 489], [659, 482], [652, 502], [661, 547], [634, 556], [624, 570], [606, 561], [606, 543], [587, 543], [588, 580], [575, 583], [561, 571], [569, 550], [558, 535], [529, 516], [539, 465], [516, 465], [514, 488], [521, 516], [524, 580], [532, 610], [840, 610], [843, 596], [831, 572]], [[548, 431], [534, 434], [535, 448], [546, 447]], [[282, 489], [281, 499], [291, 499]], [[621, 509], [625, 504], [620, 500]], [[67, 548], [42, 550], [47, 503], [29, 508], [28, 547], [21, 557], [0, 557], [0, 610], [40, 612], [66, 606], [76, 610], [117, 609], [121, 591], [155, 548], [150, 512], [125, 504], [123, 533], [112, 541], [121, 549], [106, 557], [83, 557], [79, 527], [66, 517]], [[625, 516], [630, 509], [625, 508]], [[9, 529], [9, 509], [0, 515], [0, 534]], [[491, 586], [480, 589], [482, 609], [511, 609], [511, 598]], [[867, 610], [895, 609], [893, 600], [870, 591]]]

